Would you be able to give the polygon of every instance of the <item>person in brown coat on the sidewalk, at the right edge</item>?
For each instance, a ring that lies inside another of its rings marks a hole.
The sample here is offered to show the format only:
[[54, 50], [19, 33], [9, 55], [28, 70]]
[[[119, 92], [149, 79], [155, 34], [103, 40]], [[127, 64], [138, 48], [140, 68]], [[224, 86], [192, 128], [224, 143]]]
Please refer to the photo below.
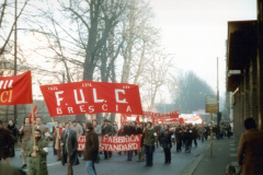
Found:
[[256, 129], [255, 120], [244, 120], [247, 132], [241, 135], [238, 148], [238, 163], [242, 175], [262, 175], [263, 173], [263, 131]]

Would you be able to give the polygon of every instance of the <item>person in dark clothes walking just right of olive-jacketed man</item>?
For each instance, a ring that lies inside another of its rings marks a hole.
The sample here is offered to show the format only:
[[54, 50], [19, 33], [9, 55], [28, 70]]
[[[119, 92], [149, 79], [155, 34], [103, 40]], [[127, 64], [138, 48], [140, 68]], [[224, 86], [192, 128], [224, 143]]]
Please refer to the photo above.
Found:
[[175, 144], [174, 142], [174, 137], [173, 132], [169, 130], [169, 126], [164, 125], [164, 130], [160, 133], [160, 140], [162, 142], [162, 148], [164, 151], [164, 163], [171, 163], [171, 148], [172, 148], [172, 142], [173, 145]]

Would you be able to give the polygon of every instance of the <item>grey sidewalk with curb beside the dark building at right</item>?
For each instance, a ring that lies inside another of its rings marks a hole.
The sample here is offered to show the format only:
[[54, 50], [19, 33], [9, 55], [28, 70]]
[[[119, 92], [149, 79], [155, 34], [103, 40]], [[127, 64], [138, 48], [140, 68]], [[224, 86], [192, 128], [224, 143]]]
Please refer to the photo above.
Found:
[[233, 165], [238, 171], [238, 145], [233, 138], [213, 140], [213, 158], [210, 158], [210, 140], [203, 153], [184, 171], [183, 175], [225, 175], [227, 165]]

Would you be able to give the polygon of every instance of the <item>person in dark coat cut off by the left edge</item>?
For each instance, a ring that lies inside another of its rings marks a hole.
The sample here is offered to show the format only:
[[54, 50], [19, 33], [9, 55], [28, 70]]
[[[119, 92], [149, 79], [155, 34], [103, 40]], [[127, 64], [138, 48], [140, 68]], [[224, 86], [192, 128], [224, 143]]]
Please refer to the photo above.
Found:
[[4, 163], [9, 164], [10, 148], [13, 143], [13, 137], [11, 132], [3, 128], [2, 121], [0, 120], [0, 162], [3, 160]]

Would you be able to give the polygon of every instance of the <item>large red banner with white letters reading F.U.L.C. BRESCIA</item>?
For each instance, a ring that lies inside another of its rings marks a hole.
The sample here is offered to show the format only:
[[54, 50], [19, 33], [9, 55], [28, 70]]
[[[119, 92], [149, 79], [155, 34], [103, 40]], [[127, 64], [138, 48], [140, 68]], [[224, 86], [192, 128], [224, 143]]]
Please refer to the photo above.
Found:
[[121, 113], [142, 115], [138, 85], [82, 81], [42, 85], [41, 91], [52, 117]]

